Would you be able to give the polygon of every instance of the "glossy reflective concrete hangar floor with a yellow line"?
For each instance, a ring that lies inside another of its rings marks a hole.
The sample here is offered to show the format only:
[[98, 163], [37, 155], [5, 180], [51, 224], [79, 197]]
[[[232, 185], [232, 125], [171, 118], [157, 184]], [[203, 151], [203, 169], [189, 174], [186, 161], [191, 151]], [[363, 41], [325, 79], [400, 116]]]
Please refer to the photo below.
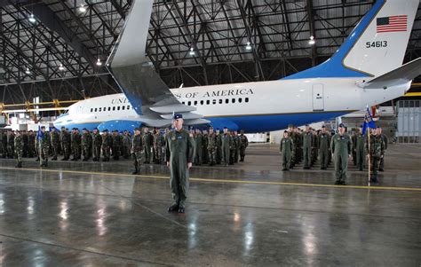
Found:
[[280, 171], [276, 145], [191, 171], [185, 215], [168, 170], [128, 161], [0, 160], [0, 266], [420, 266], [421, 146], [390, 145], [380, 184], [353, 167]]

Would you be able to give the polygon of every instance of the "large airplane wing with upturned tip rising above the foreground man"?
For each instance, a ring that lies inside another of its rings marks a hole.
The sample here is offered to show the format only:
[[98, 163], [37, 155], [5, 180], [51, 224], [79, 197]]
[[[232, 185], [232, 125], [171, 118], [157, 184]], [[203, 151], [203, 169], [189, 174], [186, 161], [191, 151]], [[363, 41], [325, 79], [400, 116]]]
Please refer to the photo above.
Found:
[[[158, 124], [162, 126], [162, 122], [158, 121], [170, 114], [192, 112], [195, 107], [185, 106], [174, 97], [147, 58], [147, 35], [153, 4], [153, 0], [133, 1], [123, 31], [107, 61], [111, 62], [110, 72], [134, 110], [145, 117], [149, 126], [157, 127]], [[209, 123], [204, 119], [197, 120], [203, 118], [200, 114], [192, 117], [195, 119], [185, 120], [187, 125]]]

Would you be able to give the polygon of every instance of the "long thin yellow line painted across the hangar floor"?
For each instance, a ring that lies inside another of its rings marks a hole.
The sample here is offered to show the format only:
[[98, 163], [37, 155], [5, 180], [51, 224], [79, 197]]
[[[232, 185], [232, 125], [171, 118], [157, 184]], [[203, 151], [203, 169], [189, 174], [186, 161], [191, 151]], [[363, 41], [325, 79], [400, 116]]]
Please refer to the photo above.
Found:
[[[123, 173], [93, 172], [93, 171], [67, 170], [67, 169], [62, 169], [62, 170], [61, 169], [30, 169], [30, 168], [15, 169], [12, 167], [0, 167], [0, 169], [28, 170], [28, 171], [41, 171], [41, 172], [52, 172], [52, 173], [85, 174], [85, 175], [107, 176], [107, 177], [135, 177], [135, 178], [140, 177], [140, 178], [166, 179], [166, 180], [170, 179], [170, 177], [163, 177], [163, 176], [131, 175], [131, 174], [123, 174]], [[242, 184], [242, 185], [294, 185], [294, 186], [326, 187], [326, 188], [341, 188], [341, 189], [370, 189], [370, 190], [385, 190], [385, 191], [421, 192], [421, 188], [418, 188], [418, 187], [399, 187], [399, 186], [393, 187], [393, 186], [368, 186], [368, 185], [323, 185], [323, 184], [247, 181], [247, 180], [211, 179], [211, 178], [195, 178], [195, 177], [190, 177], [190, 181], [223, 183], [223, 184]]]

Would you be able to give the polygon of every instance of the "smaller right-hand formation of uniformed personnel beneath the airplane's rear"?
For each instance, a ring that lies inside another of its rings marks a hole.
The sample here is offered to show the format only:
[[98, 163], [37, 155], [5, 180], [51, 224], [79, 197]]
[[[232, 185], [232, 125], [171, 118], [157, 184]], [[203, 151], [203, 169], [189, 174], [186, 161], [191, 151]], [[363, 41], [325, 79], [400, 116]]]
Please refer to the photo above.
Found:
[[[306, 125], [303, 132], [290, 125], [285, 130], [281, 140], [280, 151], [282, 153], [282, 170], [292, 169], [297, 163], [303, 161], [303, 169], [310, 169], [316, 161], [320, 161], [320, 169], [327, 169], [333, 159], [336, 170], [336, 185], [345, 185], [347, 158], [352, 157], [353, 165], [363, 170], [366, 160], [370, 164], [370, 181], [377, 183], [378, 171], [385, 168], [385, 150], [387, 149], [387, 137], [381, 128], [371, 130], [370, 138], [362, 135], [359, 128], [352, 136], [346, 132], [331, 135], [324, 126], [322, 130], [311, 129]], [[370, 144], [370, 145], [369, 145]], [[346, 156], [346, 158], [345, 158]]]

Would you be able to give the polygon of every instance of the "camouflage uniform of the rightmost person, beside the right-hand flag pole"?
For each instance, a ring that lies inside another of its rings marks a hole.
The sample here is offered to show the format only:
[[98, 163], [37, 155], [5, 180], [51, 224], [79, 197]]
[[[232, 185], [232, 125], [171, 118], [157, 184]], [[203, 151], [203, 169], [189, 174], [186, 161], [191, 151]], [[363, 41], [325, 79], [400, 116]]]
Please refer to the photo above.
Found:
[[369, 181], [377, 183], [377, 173], [380, 168], [380, 161], [385, 153], [385, 142], [381, 136], [371, 135], [367, 138], [366, 149], [369, 153]]

